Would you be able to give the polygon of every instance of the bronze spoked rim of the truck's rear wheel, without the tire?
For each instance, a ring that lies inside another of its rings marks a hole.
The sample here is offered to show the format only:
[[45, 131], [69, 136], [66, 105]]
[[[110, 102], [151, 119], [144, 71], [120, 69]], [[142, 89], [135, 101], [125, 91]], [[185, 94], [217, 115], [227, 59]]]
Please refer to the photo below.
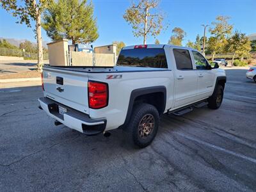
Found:
[[155, 118], [151, 114], [144, 115], [139, 123], [140, 138], [147, 138], [153, 131], [155, 125]]

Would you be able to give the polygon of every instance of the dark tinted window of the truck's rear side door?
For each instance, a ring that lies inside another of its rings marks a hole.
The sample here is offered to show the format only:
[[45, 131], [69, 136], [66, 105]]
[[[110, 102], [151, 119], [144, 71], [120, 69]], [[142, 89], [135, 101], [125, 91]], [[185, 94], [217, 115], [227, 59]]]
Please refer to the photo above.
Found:
[[193, 65], [187, 49], [173, 49], [174, 58], [176, 61], [177, 69], [179, 70], [192, 70]]

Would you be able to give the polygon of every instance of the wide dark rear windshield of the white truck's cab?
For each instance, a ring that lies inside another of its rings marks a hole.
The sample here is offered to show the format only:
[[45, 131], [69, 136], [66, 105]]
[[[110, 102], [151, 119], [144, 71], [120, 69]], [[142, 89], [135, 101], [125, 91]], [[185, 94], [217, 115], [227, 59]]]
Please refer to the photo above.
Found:
[[163, 48], [124, 49], [120, 52], [116, 65], [168, 68]]

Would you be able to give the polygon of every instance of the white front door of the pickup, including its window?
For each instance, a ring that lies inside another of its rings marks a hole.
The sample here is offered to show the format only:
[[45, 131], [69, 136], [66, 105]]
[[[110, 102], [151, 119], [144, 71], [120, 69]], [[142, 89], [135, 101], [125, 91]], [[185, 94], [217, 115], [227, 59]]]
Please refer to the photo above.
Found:
[[198, 98], [197, 99], [205, 99], [206, 97], [211, 96], [212, 90], [214, 88], [214, 77], [215, 74], [209, 69], [208, 61], [202, 56], [200, 52], [192, 51], [193, 53], [193, 62], [196, 66], [196, 72], [198, 75], [197, 81], [197, 90], [198, 90]]

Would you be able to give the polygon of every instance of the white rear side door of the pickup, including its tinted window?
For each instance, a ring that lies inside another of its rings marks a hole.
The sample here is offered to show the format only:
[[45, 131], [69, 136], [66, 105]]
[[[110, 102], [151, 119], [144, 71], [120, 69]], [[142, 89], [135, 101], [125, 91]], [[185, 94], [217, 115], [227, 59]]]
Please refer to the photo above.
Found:
[[186, 106], [195, 102], [197, 95], [197, 74], [193, 70], [188, 49], [173, 49], [175, 70], [175, 103], [174, 107]]

